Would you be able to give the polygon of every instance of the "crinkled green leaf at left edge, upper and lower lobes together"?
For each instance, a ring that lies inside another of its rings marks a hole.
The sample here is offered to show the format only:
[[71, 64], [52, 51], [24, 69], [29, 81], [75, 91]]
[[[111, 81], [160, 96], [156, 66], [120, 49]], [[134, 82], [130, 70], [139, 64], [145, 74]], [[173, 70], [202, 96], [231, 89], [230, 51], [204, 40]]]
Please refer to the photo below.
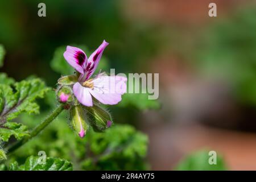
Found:
[[[9, 80], [9, 84], [12, 82]], [[35, 100], [43, 98], [48, 90], [49, 88], [39, 78], [11, 85], [0, 84], [0, 140], [7, 142], [12, 135], [18, 140], [28, 136], [26, 126], [9, 121], [21, 113], [39, 113], [39, 105]]]

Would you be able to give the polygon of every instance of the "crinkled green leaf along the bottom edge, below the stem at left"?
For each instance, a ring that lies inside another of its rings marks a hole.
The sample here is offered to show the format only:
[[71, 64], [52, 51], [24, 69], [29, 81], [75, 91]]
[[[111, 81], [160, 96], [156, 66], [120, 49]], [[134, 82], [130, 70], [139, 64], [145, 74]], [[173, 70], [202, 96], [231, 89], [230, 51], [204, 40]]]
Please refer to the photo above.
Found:
[[72, 171], [72, 163], [59, 158], [46, 158], [43, 163], [42, 157], [30, 156], [22, 166], [17, 162], [10, 164], [10, 171]]

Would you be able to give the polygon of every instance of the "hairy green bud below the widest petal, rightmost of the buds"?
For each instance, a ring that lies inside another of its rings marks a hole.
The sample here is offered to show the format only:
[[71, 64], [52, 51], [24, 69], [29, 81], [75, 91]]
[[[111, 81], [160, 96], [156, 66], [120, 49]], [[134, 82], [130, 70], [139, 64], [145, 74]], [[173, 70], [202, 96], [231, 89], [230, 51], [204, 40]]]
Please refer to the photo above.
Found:
[[86, 107], [89, 116], [89, 123], [96, 132], [103, 132], [112, 125], [112, 117], [109, 112], [98, 104]]

